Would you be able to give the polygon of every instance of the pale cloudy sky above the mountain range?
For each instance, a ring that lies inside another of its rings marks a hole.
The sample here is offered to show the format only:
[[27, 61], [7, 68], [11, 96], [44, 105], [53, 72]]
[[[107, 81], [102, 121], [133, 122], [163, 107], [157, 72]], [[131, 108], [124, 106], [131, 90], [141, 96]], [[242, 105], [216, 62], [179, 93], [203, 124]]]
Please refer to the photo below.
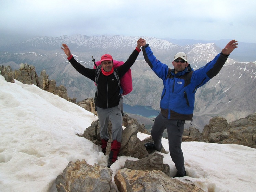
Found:
[[251, 0], [1, 0], [0, 34], [125, 35], [256, 43]]

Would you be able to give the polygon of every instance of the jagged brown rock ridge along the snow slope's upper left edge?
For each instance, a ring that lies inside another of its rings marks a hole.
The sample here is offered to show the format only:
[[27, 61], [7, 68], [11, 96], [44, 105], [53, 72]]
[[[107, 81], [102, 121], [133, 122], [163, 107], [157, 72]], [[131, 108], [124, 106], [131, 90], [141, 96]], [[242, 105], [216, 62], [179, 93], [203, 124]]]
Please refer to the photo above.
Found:
[[56, 86], [55, 80], [49, 80], [46, 71], [43, 70], [38, 77], [36, 69], [32, 65], [21, 63], [20, 69], [12, 71], [10, 66], [0, 67], [1, 75], [4, 76], [5, 80], [8, 82], [15, 83], [14, 79], [29, 85], [36, 85], [42, 90], [48, 91], [55, 95], [58, 95], [61, 98], [66, 99], [67, 101], [76, 102], [76, 98], [69, 98], [67, 95], [67, 89], [63, 85]]

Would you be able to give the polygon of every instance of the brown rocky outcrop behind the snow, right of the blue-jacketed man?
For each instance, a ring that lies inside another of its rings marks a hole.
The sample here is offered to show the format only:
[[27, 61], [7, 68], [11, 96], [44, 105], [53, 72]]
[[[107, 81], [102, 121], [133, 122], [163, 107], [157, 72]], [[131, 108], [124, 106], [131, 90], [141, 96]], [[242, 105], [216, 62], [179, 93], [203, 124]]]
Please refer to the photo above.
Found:
[[227, 123], [223, 117], [213, 117], [200, 133], [190, 127], [184, 131], [183, 141], [238, 144], [256, 148], [256, 113]]

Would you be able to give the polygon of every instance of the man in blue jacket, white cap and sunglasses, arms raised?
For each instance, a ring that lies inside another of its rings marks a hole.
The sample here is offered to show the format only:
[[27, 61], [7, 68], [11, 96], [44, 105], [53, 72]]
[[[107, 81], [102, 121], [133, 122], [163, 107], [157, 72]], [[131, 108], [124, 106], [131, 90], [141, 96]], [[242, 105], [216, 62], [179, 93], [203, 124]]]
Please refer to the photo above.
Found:
[[194, 70], [190, 67], [184, 52], [175, 54], [172, 61], [174, 69], [170, 69], [156, 59], [146, 41], [141, 44], [146, 62], [163, 80], [164, 85], [160, 101], [161, 113], [156, 117], [151, 130], [154, 143], [145, 143], [145, 147], [161, 150], [161, 138], [167, 129], [170, 155], [177, 169], [174, 177], [186, 175], [181, 142], [185, 121], [192, 121], [196, 90], [219, 73], [237, 45], [237, 41], [230, 41], [212, 61]]

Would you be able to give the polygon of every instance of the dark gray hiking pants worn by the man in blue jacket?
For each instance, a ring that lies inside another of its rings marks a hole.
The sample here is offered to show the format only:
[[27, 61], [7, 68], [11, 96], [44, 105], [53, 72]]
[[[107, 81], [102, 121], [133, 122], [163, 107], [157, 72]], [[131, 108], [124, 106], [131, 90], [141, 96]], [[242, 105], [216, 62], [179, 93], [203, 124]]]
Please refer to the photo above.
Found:
[[185, 165], [184, 165], [184, 157], [183, 152], [181, 150], [181, 142], [182, 135], [184, 132], [184, 124], [183, 120], [172, 120], [167, 119], [159, 114], [155, 123], [152, 126], [151, 136], [154, 140], [155, 149], [161, 150], [162, 148], [162, 136], [165, 129], [167, 129], [168, 133], [168, 141], [169, 141], [169, 150], [171, 159], [175, 164], [175, 167], [180, 175], [185, 175]]

